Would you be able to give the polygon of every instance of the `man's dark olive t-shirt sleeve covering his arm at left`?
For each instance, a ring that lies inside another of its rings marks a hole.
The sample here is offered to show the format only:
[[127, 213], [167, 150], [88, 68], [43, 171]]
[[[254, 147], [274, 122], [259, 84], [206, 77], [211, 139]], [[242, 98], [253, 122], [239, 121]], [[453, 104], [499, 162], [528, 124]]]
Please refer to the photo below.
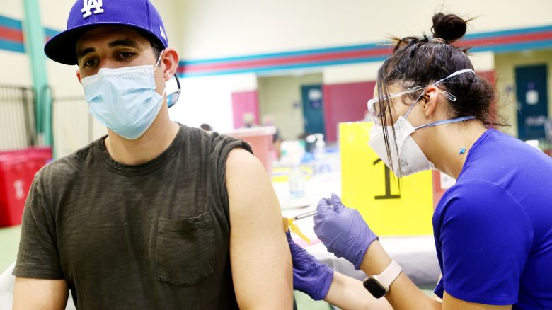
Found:
[[44, 203], [38, 176], [33, 180], [25, 202], [13, 275], [52, 280], [64, 278], [59, 263], [54, 217]]

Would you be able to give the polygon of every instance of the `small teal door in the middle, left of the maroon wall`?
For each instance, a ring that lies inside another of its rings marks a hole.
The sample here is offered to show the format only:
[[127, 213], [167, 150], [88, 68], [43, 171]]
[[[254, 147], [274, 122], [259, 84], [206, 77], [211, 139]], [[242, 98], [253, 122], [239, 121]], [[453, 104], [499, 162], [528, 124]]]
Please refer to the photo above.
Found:
[[322, 85], [301, 86], [305, 134], [325, 134]]

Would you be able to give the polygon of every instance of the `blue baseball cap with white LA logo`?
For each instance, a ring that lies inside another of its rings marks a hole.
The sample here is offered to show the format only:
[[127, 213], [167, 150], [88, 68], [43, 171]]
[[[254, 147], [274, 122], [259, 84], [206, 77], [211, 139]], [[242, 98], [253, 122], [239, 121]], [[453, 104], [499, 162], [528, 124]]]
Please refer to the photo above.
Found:
[[161, 16], [149, 0], [77, 0], [67, 18], [67, 30], [44, 46], [46, 56], [62, 64], [77, 64], [76, 42], [100, 25], [122, 25], [142, 30], [160, 47], [168, 46]]

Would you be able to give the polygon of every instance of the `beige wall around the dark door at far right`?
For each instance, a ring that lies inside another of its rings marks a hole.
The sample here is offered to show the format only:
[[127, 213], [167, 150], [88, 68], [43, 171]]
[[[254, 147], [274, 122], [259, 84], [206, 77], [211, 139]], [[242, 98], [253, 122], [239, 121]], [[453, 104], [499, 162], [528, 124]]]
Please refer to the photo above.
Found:
[[546, 64], [548, 66], [548, 117], [552, 112], [552, 50], [535, 50], [495, 55], [497, 91], [500, 95], [500, 114], [506, 117], [512, 127], [502, 131], [517, 137], [517, 99], [514, 70], [518, 66]]

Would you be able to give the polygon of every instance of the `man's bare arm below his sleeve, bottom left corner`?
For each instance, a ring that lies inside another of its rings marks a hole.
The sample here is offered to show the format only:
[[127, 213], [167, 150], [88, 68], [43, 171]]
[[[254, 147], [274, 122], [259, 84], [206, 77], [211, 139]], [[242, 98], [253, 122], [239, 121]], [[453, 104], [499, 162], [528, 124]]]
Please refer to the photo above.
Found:
[[13, 310], [61, 310], [67, 304], [67, 282], [16, 277]]

